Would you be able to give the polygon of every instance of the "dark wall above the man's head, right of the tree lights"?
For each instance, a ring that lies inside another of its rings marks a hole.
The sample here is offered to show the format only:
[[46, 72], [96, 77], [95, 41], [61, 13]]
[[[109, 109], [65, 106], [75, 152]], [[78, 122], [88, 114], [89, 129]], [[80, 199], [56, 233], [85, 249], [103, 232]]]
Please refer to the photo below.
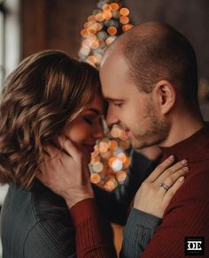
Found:
[[129, 6], [135, 24], [163, 21], [185, 34], [196, 50], [200, 75], [209, 80], [208, 0], [127, 0], [124, 3]]

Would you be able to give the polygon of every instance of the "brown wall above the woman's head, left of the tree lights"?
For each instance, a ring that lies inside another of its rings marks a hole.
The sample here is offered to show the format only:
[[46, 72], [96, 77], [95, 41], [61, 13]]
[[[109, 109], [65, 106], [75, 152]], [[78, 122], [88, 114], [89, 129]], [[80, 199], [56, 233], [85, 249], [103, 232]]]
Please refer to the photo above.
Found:
[[42, 49], [77, 57], [80, 31], [96, 7], [94, 0], [22, 0], [22, 57]]

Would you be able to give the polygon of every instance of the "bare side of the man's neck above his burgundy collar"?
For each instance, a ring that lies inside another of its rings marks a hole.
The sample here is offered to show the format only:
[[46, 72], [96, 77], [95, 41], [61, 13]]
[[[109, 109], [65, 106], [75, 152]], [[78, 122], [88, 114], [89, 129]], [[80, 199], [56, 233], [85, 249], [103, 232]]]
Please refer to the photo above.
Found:
[[195, 118], [191, 115], [183, 115], [182, 113], [175, 115], [171, 123], [168, 137], [159, 144], [160, 147], [171, 147], [177, 142], [189, 138], [204, 126], [201, 116]]

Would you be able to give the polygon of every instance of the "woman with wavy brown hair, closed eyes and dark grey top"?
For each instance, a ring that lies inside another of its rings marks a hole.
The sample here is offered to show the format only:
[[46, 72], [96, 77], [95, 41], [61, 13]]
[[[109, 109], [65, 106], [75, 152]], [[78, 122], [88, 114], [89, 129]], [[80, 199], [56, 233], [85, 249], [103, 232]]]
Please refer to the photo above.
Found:
[[0, 183], [10, 183], [1, 222], [4, 257], [75, 256], [66, 202], [35, 177], [44, 145], [62, 132], [89, 155], [103, 136], [102, 113], [97, 70], [64, 52], [27, 57], [6, 80], [0, 107]]

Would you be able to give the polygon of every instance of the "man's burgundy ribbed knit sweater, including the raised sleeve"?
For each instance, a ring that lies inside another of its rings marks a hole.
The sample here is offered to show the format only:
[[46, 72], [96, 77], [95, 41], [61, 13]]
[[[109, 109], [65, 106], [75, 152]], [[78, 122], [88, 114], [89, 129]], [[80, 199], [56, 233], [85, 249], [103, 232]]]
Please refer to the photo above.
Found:
[[[209, 257], [208, 125], [173, 147], [163, 148], [161, 161], [170, 155], [174, 155], [176, 161], [187, 159], [190, 172], [167, 207], [163, 222], [146, 247], [143, 258], [185, 257], [185, 237], [204, 237], [205, 257]], [[76, 229], [78, 257], [114, 257], [93, 199], [76, 204], [71, 209], [71, 215]]]

